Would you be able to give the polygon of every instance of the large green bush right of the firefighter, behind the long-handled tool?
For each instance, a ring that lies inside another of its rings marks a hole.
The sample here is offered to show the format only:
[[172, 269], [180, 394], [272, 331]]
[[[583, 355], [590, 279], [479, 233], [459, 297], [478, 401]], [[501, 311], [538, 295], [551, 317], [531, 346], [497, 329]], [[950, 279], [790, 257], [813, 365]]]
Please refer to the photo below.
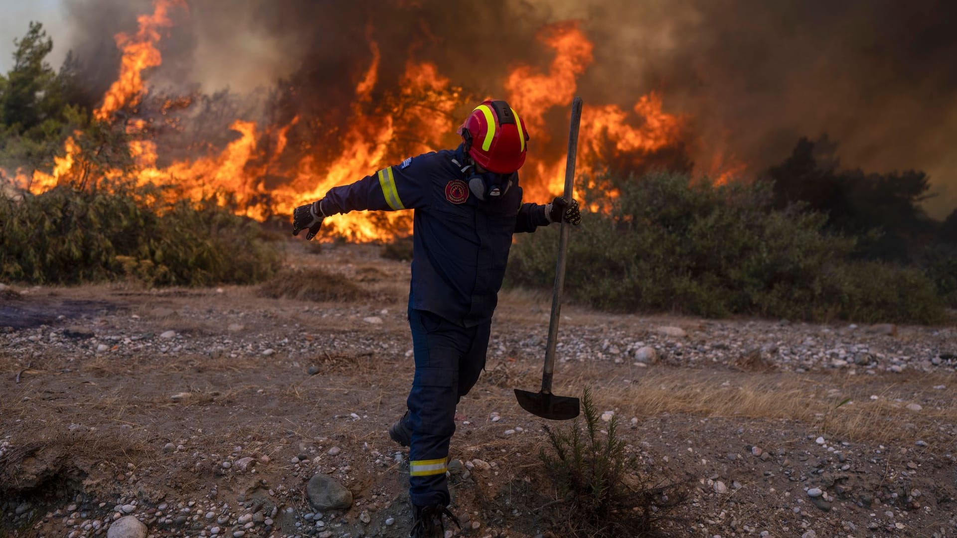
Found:
[[[705, 317], [943, 318], [920, 272], [852, 260], [853, 238], [825, 233], [824, 215], [774, 209], [768, 185], [715, 187], [669, 173], [612, 183], [615, 197], [585, 191], [594, 211], [568, 245], [566, 286], [578, 301]], [[557, 228], [518, 237], [509, 285], [551, 285]]]

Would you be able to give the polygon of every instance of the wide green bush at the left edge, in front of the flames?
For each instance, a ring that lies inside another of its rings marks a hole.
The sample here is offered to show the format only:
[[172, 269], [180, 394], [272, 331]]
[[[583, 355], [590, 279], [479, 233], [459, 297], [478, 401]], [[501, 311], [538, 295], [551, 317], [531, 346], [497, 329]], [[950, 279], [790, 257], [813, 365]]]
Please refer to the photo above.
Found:
[[251, 283], [279, 261], [255, 221], [213, 200], [165, 202], [163, 191], [124, 185], [0, 195], [0, 280]]

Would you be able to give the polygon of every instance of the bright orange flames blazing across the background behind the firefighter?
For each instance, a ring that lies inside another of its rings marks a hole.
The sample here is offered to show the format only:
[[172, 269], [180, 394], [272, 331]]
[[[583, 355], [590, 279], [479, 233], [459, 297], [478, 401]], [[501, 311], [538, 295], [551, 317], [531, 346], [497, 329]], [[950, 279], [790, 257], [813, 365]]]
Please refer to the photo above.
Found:
[[[145, 73], [162, 64], [157, 45], [162, 31], [172, 24], [169, 11], [174, 6], [186, 8], [184, 0], [155, 0], [154, 11], [137, 19], [136, 34], [115, 36], [122, 50], [120, 75], [94, 112], [98, 121], [109, 123], [117, 111], [136, 107], [145, 98]], [[301, 123], [305, 122], [299, 116], [284, 124], [264, 126], [237, 118], [229, 127], [233, 140], [218, 152], [170, 162], [149, 139], [152, 123], [132, 118], [117, 128], [123, 128], [130, 138], [125, 149], [133, 171], [98, 170], [100, 177], [92, 181], [132, 173], [138, 185], [164, 187], [168, 199], [213, 197], [226, 203], [229, 197], [236, 202], [238, 213], [265, 220], [272, 214], [288, 215], [298, 205], [323, 197], [329, 189], [352, 183], [402, 158], [448, 146], [451, 139], [445, 137], [461, 120], [456, 118], [456, 111], [467, 104], [462, 102], [461, 89], [434, 63], [410, 59], [398, 80], [398, 92], [374, 102], [382, 56], [371, 27], [366, 34], [371, 57], [364, 69], [357, 70], [347, 119], [335, 131], [336, 150], [323, 147], [319, 141], [303, 141], [301, 136], [295, 139], [295, 147], [290, 147], [290, 133], [303, 131]], [[564, 133], [568, 125], [567, 115], [566, 123], [560, 125], [549, 124], [549, 118], [556, 116], [552, 109], [564, 109], [575, 96], [578, 78], [593, 60], [593, 46], [576, 22], [550, 25], [536, 37], [554, 52], [547, 69], [515, 65], [503, 79], [503, 88], [531, 137], [522, 170], [525, 198], [545, 202], [561, 193], [565, 175], [564, 137], [552, 140], [550, 133]], [[164, 101], [159, 107], [163, 117], [159, 122], [175, 126], [178, 118], [173, 113], [188, 108], [193, 101], [191, 97]], [[589, 103], [581, 123], [578, 175], [590, 174], [601, 163], [620, 156], [640, 160], [679, 145], [687, 134], [687, 123], [683, 116], [665, 111], [663, 98], [657, 93], [641, 96], [631, 106]], [[293, 128], [297, 130], [291, 131]], [[27, 174], [18, 169], [10, 177], [0, 170], [0, 177], [37, 194], [59, 184], [85, 184], [91, 167], [83, 161], [78, 144], [81, 136], [78, 132], [66, 140], [63, 154], [54, 158], [50, 173], [34, 170]], [[729, 165], [718, 159], [710, 174], [721, 182], [741, 169], [736, 161], [731, 160]], [[617, 191], [609, 187], [605, 195], [613, 198]], [[593, 201], [585, 201], [585, 205], [601, 207]], [[347, 213], [327, 219], [325, 228], [327, 233], [349, 240], [373, 241], [411, 233], [412, 218], [409, 212]]]

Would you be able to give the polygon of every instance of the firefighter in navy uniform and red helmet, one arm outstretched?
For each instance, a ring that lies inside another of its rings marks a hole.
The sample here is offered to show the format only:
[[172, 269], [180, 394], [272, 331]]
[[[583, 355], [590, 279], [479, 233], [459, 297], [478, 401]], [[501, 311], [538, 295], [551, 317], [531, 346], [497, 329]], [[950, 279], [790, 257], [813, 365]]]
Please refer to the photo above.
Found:
[[293, 235], [312, 239], [323, 218], [352, 211], [413, 210], [409, 325], [415, 372], [408, 410], [389, 437], [410, 447], [412, 537], [443, 536], [449, 511], [446, 463], [456, 404], [485, 366], [492, 313], [512, 235], [565, 219], [578, 204], [556, 197], [523, 203], [528, 131], [505, 101], [484, 101], [458, 129], [456, 149], [425, 153], [383, 168], [323, 199], [296, 208]]

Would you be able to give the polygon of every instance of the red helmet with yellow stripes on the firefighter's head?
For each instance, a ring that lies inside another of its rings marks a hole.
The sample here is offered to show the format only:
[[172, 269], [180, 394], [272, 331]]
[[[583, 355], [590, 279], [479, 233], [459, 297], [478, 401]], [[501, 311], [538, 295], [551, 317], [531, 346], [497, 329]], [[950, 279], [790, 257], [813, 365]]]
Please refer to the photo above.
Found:
[[512, 173], [525, 163], [528, 131], [518, 113], [505, 101], [482, 101], [458, 128], [465, 150], [481, 167]]

